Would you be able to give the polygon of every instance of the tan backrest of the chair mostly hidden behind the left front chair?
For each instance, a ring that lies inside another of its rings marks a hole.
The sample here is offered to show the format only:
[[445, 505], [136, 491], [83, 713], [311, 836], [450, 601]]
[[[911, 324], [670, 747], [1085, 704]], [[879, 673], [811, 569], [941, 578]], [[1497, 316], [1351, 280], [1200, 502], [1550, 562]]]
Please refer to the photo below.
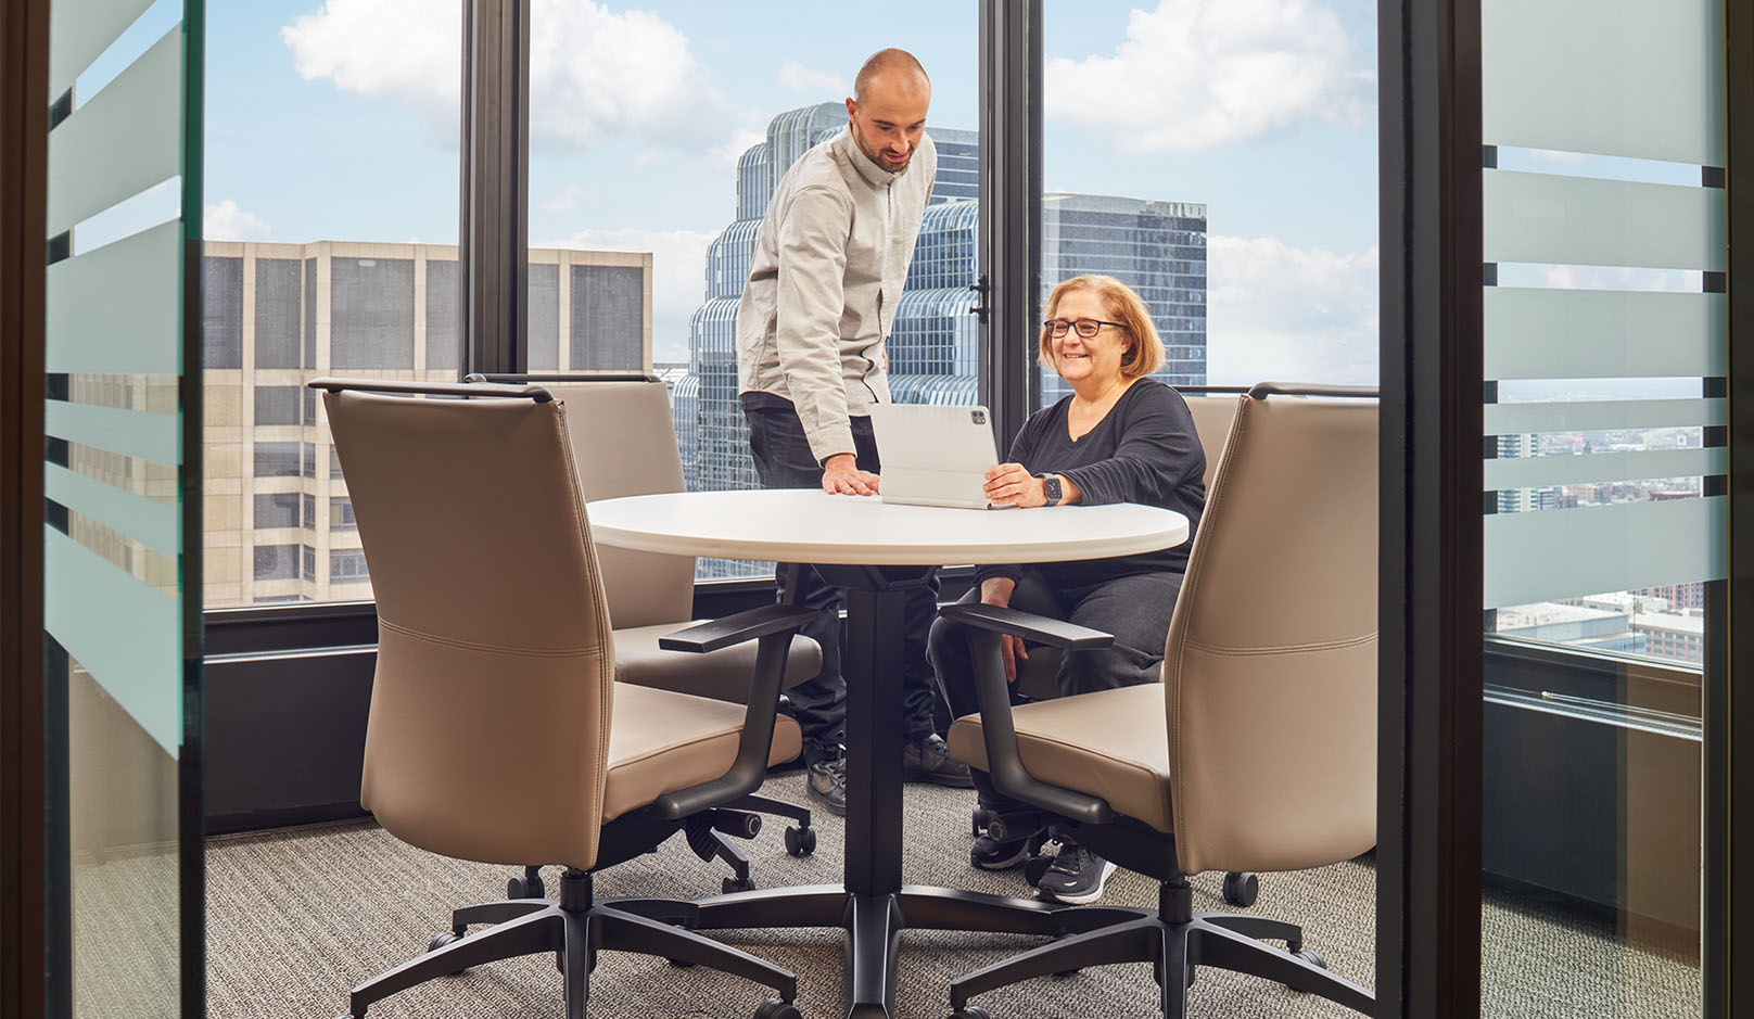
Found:
[[[663, 382], [544, 382], [567, 405], [567, 435], [586, 502], [682, 491], [682, 456]], [[695, 612], [695, 558], [596, 549], [617, 630], [686, 623]]]

